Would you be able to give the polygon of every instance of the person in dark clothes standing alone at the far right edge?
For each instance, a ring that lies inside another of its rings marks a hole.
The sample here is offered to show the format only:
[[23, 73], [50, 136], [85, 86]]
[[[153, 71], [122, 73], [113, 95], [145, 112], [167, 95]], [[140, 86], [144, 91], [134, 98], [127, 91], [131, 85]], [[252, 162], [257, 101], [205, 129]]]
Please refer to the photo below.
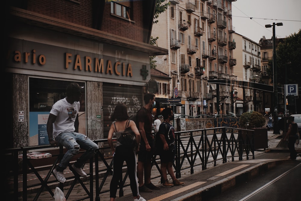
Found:
[[288, 130], [284, 137], [284, 141], [288, 138], [288, 149], [290, 149], [290, 159], [296, 160], [297, 152], [295, 150], [295, 143], [297, 140], [298, 126], [294, 122], [295, 117], [288, 117]]

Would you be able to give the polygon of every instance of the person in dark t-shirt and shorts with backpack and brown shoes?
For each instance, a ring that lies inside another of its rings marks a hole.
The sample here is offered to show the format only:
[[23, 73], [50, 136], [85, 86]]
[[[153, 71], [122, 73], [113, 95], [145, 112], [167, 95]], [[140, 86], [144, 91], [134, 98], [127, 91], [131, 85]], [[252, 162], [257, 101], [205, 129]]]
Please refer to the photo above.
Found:
[[[176, 179], [172, 169], [172, 164], [175, 161], [175, 128], [170, 123], [174, 120], [173, 111], [171, 108], [165, 108], [162, 115], [164, 121], [156, 135], [156, 152], [160, 156], [161, 176], [165, 181], [163, 187], [182, 186], [185, 183]], [[166, 171], [172, 178], [172, 184], [168, 182]]]

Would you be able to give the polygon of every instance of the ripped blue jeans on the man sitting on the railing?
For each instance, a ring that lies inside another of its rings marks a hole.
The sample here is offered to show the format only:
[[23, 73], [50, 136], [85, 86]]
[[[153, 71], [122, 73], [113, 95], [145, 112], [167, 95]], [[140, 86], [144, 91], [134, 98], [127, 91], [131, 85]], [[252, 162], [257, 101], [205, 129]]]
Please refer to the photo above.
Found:
[[60, 164], [57, 166], [57, 171], [64, 171], [64, 169], [67, 168], [69, 161], [79, 152], [80, 148], [85, 149], [86, 151], [74, 163], [74, 166], [77, 168], [81, 168], [82, 165], [93, 156], [95, 150], [98, 149], [98, 145], [87, 136], [76, 132], [60, 133], [55, 137], [55, 141], [68, 149], [61, 159]]

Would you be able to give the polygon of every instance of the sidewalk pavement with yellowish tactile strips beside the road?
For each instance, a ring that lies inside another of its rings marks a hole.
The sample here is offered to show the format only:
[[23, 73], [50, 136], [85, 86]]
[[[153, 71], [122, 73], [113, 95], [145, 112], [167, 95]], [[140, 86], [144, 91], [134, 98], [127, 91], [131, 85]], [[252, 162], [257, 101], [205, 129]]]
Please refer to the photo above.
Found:
[[[206, 170], [202, 167], [195, 166], [194, 174], [190, 174], [190, 168], [186, 171], [181, 171], [181, 178], [178, 180], [185, 182], [183, 186], [162, 187], [160, 184], [160, 177], [152, 179], [152, 183], [160, 187], [160, 190], [153, 190], [152, 193], [143, 193], [141, 196], [148, 201], [157, 200], [202, 200], [208, 196], [212, 197], [225, 190], [228, 190], [241, 182], [246, 182], [264, 171], [274, 168], [278, 164], [288, 160], [289, 150], [287, 147], [279, 147], [278, 144], [282, 143], [282, 134], [273, 134], [273, 131], [268, 131], [268, 148], [259, 149], [255, 151], [255, 159], [243, 161], [228, 161], [224, 164], [217, 166], [207, 166]], [[278, 146], [278, 147], [277, 147]], [[301, 145], [296, 145], [297, 152], [301, 152]], [[297, 163], [301, 162], [301, 157], [297, 157]], [[169, 182], [172, 182], [168, 175]], [[107, 178], [108, 179], [108, 178]], [[109, 180], [110, 181], [110, 180]], [[101, 181], [100, 181], [101, 182]], [[84, 182], [86, 187], [88, 182]], [[109, 182], [107, 182], [107, 188]], [[95, 183], [94, 183], [95, 184]], [[68, 186], [64, 186], [64, 193], [66, 195]], [[131, 189], [129, 186], [123, 188], [124, 196], [118, 197], [119, 190], [117, 190], [116, 200], [133, 200]], [[73, 188], [68, 200], [79, 199], [86, 195], [80, 184], [76, 184]], [[110, 200], [110, 193], [102, 193], [99, 200]], [[31, 199], [35, 194], [29, 194], [28, 199]], [[48, 192], [43, 192], [39, 196], [39, 200], [53, 200]], [[88, 200], [88, 199], [85, 199]], [[94, 198], [95, 199], [95, 195]]]

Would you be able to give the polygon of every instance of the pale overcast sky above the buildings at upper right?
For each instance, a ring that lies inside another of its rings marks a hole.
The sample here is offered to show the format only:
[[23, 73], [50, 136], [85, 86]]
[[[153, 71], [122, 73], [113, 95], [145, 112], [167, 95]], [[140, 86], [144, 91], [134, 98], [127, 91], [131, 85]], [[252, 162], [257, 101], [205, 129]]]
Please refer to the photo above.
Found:
[[[253, 17], [253, 19], [250, 19]], [[277, 38], [285, 38], [301, 29], [301, 0], [237, 0], [232, 2], [232, 26], [235, 32], [254, 42], [262, 36], [270, 39], [273, 28], [265, 24], [282, 22], [275, 26]]]

